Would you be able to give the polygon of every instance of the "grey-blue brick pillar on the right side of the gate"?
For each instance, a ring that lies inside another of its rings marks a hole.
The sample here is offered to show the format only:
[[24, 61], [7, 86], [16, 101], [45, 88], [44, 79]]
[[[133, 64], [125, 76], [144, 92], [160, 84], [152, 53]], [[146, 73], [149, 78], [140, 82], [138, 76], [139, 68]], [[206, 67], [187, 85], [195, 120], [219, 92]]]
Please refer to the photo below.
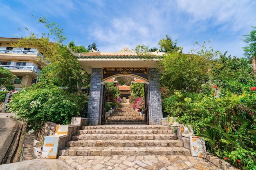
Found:
[[148, 113], [149, 124], [161, 125], [163, 118], [159, 75], [156, 68], [149, 68]]

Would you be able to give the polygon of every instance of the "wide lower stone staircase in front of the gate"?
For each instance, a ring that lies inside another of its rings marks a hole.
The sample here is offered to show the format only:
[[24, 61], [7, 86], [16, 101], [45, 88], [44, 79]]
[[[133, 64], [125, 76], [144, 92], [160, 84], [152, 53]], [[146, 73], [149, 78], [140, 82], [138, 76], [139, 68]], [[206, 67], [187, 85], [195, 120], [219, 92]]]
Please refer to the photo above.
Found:
[[167, 126], [82, 126], [59, 156], [191, 155]]

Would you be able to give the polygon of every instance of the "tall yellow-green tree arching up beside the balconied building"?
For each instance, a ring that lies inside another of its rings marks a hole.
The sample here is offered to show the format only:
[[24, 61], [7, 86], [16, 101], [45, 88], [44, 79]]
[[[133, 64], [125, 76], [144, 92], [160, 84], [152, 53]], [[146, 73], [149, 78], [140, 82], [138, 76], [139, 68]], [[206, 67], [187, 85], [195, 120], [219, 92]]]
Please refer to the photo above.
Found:
[[[45, 17], [40, 17], [38, 22], [49, 28], [50, 33], [43, 33], [43, 37], [30, 33], [29, 36], [20, 39], [17, 44], [13, 44], [13, 47], [34, 46], [44, 54], [44, 58], [42, 57], [41, 60], [49, 61], [51, 64], [43, 69], [40, 81], [67, 87], [70, 92], [78, 91], [79, 87], [88, 87], [90, 75], [83, 70], [76, 57], [62, 44], [65, 40], [63, 29], [54, 22], [50, 23]], [[55, 35], [55, 41], [50, 41], [49, 35]], [[76, 47], [74, 42], [71, 42], [70, 45]], [[43, 78], [47, 80], [43, 80]]]

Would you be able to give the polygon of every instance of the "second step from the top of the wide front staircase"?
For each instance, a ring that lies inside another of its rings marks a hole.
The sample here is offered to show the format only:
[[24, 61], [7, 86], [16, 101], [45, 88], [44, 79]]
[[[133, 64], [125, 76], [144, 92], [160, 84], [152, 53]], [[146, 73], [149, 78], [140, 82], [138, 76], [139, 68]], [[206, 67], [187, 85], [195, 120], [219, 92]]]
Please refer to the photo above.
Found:
[[78, 130], [77, 134], [172, 134], [167, 129], [89, 129]]

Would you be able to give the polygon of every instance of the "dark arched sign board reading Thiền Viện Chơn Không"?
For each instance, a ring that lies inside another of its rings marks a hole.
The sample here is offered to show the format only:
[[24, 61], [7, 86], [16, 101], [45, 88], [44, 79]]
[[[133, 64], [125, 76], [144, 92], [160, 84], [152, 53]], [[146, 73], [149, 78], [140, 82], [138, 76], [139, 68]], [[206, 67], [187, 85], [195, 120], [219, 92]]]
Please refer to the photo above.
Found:
[[145, 81], [148, 81], [148, 68], [103, 68], [101, 81], [121, 75], [137, 76]]

